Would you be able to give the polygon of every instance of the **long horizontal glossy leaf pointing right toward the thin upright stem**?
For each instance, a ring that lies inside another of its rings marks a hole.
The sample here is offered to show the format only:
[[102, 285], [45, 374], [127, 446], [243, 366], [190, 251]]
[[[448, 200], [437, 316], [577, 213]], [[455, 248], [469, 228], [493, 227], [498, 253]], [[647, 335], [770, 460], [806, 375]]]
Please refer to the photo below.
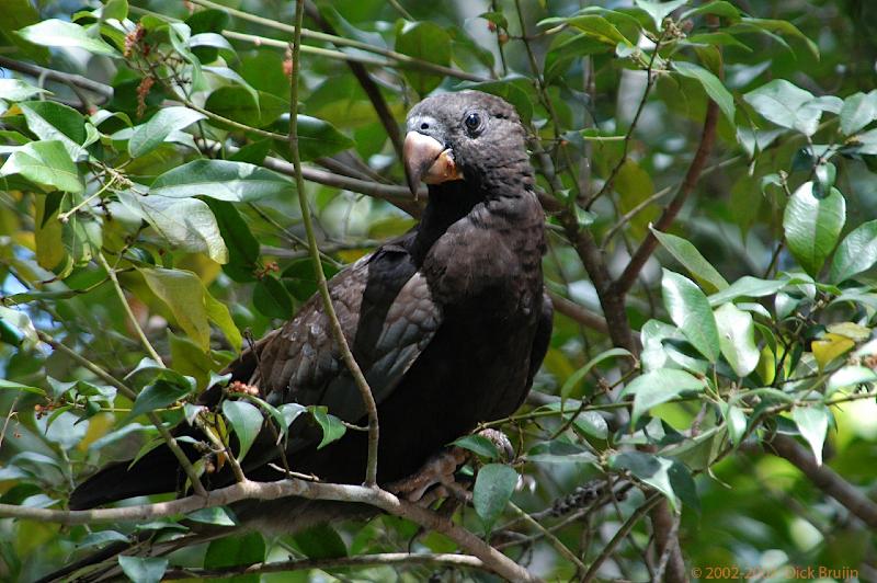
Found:
[[207, 196], [238, 203], [294, 191], [293, 182], [276, 172], [227, 160], [194, 160], [161, 174], [150, 186], [151, 194], [171, 198]]

